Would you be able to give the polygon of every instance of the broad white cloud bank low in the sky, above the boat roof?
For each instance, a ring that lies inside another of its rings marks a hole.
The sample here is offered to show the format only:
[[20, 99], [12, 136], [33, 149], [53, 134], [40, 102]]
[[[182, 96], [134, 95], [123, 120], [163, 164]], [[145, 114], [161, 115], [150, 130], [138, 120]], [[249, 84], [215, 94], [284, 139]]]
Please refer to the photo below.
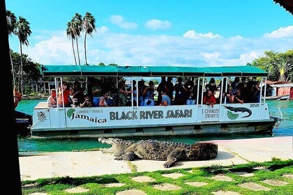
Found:
[[[197, 33], [201, 34], [201, 33]], [[213, 33], [212, 33], [213, 34]], [[213, 34], [214, 35], [214, 34]], [[43, 36], [40, 34], [40, 36]], [[71, 40], [66, 32], [54, 32], [36, 44], [22, 47], [25, 54], [41, 64], [75, 64]], [[17, 39], [14, 39], [17, 43]], [[36, 40], [35, 40], [36, 41]], [[79, 39], [80, 60], [84, 64], [84, 40]], [[15, 44], [15, 51], [19, 45]], [[246, 65], [266, 50], [286, 52], [292, 49], [293, 37], [278, 38], [186, 38], [167, 35], [131, 35], [113, 33], [107, 26], [87, 38], [90, 64], [216, 66]], [[75, 50], [76, 51], [76, 50]]]

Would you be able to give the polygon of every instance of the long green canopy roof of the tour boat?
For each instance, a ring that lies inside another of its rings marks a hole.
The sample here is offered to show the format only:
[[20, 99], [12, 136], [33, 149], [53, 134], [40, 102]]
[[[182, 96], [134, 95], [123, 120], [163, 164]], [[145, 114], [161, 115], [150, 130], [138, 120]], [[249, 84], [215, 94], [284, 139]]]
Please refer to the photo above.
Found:
[[115, 76], [115, 77], [266, 77], [264, 70], [250, 66], [182, 67], [182, 66], [111, 66], [111, 65], [42, 65], [44, 77]]

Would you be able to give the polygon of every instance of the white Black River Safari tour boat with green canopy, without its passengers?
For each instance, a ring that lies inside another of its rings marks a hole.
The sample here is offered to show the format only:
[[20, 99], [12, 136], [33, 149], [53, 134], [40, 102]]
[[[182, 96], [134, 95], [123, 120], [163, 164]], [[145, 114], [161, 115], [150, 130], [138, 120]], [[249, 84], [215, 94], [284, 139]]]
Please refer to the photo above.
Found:
[[[196, 104], [127, 107], [47, 107], [40, 102], [33, 109], [32, 137], [144, 137], [197, 134], [271, 133], [282, 120], [281, 113], [269, 110], [265, 102], [267, 72], [253, 66], [174, 67], [174, 66], [99, 66], [42, 65], [43, 77], [54, 77], [58, 88], [65, 77], [89, 81], [91, 77], [126, 78], [145, 81], [160, 77], [190, 79], [197, 84]], [[203, 104], [206, 83], [213, 77], [220, 81], [219, 94], [227, 91], [227, 81], [234, 77], [260, 79], [260, 100], [256, 103], [226, 103], [219, 95], [218, 104]], [[264, 84], [263, 84], [264, 81]], [[226, 84], [225, 84], [226, 83]], [[147, 82], [146, 82], [147, 84]], [[133, 85], [131, 85], [134, 87]], [[87, 87], [87, 86], [86, 86]], [[62, 89], [61, 89], [62, 90]], [[89, 91], [89, 88], [86, 88]], [[131, 93], [130, 98], [133, 97]], [[137, 100], [138, 100], [137, 95]], [[280, 109], [278, 109], [280, 111]]]

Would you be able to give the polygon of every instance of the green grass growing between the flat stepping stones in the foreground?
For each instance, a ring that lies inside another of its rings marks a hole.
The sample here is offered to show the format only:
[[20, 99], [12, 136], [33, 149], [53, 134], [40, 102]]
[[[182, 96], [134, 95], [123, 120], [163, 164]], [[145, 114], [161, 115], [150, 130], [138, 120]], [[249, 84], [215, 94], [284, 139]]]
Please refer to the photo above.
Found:
[[[129, 164], [128, 164], [129, 165]], [[269, 171], [253, 169], [257, 166], [264, 166]], [[133, 167], [135, 170], [135, 167]], [[254, 173], [254, 176], [242, 177], [236, 175], [234, 172], [246, 171]], [[135, 171], [133, 171], [135, 172]], [[177, 179], [167, 178], [162, 176], [166, 173], [182, 173], [183, 176]], [[283, 177], [283, 174], [290, 173], [293, 175], [293, 160], [282, 161], [280, 159], [272, 159], [271, 162], [250, 162], [248, 164], [239, 164], [234, 166], [220, 166], [214, 164], [209, 167], [195, 168], [195, 169], [172, 169], [166, 171], [153, 171], [142, 173], [125, 173], [113, 174], [104, 176], [94, 176], [86, 178], [50, 178], [39, 180], [27, 180], [22, 182], [22, 194], [32, 194], [36, 192], [45, 192], [47, 194], [68, 194], [65, 189], [73, 187], [83, 187], [89, 189], [89, 192], [78, 194], [117, 194], [127, 189], [139, 189], [146, 194], [211, 194], [219, 190], [232, 191], [239, 194], [293, 194], [293, 180]], [[211, 176], [225, 175], [233, 179], [232, 182], [224, 182], [212, 180]], [[131, 180], [137, 176], [148, 176], [153, 178], [154, 182], [135, 182]], [[287, 182], [287, 185], [273, 186], [268, 185], [263, 180], [280, 180]], [[122, 187], [105, 187], [109, 183], [123, 183]], [[208, 185], [202, 187], [193, 187], [186, 185], [186, 182], [207, 182]], [[244, 182], [255, 182], [264, 187], [269, 187], [271, 190], [268, 192], [259, 191], [255, 192], [250, 189], [239, 187], [239, 184]], [[169, 183], [181, 187], [181, 189], [173, 191], [161, 191], [154, 189], [153, 185]], [[33, 185], [31, 185], [33, 184]], [[30, 187], [27, 187], [31, 185]]]

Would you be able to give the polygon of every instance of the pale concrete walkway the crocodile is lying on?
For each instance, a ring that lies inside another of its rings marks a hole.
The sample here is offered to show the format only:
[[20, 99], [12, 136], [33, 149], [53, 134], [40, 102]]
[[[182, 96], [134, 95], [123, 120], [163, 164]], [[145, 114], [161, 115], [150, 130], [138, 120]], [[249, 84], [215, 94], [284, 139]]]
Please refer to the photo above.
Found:
[[[208, 161], [177, 162], [168, 169], [184, 169], [200, 166], [246, 164], [271, 161], [272, 157], [293, 159], [293, 137], [260, 139], [214, 140], [218, 144], [218, 157]], [[167, 170], [165, 162], [135, 160], [130, 162], [137, 171]], [[128, 162], [117, 161], [111, 154], [101, 151], [45, 153], [20, 157], [22, 180], [70, 176], [101, 176], [114, 173], [131, 173]]]

